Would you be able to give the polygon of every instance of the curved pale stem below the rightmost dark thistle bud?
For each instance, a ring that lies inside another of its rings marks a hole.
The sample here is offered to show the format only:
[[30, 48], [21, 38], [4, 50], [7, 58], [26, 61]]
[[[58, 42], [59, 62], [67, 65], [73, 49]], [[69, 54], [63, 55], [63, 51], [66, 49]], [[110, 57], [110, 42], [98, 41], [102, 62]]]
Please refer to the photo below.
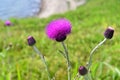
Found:
[[91, 64], [92, 64], [92, 57], [93, 57], [93, 54], [94, 54], [95, 50], [96, 50], [99, 46], [101, 46], [106, 40], [107, 40], [107, 39], [105, 38], [103, 41], [101, 41], [101, 42], [91, 51], [91, 53], [90, 53], [90, 58], [89, 58], [89, 61], [88, 61], [88, 64], [87, 64], [88, 70], [90, 69], [90, 66], [91, 66]]

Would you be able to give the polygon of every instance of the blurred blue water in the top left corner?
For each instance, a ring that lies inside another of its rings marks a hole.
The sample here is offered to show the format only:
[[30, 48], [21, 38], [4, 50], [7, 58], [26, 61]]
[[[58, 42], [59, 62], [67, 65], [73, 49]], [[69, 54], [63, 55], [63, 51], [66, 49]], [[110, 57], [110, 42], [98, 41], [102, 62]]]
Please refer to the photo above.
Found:
[[0, 19], [34, 16], [40, 11], [41, 0], [0, 0]]

